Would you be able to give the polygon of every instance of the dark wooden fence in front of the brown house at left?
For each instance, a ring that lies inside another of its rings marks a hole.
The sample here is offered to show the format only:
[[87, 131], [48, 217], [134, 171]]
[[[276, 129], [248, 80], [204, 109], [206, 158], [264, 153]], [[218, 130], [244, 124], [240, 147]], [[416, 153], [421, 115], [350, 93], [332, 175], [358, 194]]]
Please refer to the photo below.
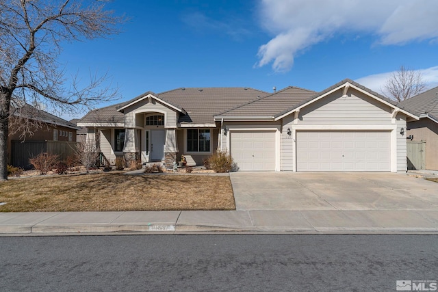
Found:
[[29, 158], [36, 157], [42, 152], [59, 155], [61, 160], [75, 153], [77, 142], [66, 141], [12, 141], [11, 165], [31, 169]]

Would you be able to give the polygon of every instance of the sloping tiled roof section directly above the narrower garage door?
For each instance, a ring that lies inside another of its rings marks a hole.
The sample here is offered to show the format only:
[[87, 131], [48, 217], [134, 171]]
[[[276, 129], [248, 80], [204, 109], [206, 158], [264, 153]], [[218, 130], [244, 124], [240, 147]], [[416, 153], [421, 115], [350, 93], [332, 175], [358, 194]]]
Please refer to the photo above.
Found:
[[315, 93], [312, 90], [289, 86], [274, 94], [225, 111], [218, 116], [276, 116], [290, 107], [307, 100], [309, 96], [313, 96]]

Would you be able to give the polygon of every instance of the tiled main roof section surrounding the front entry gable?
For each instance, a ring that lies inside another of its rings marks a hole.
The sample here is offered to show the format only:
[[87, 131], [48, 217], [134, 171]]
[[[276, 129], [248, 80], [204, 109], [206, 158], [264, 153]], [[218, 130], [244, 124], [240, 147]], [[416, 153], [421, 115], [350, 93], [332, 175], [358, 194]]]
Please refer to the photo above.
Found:
[[149, 93], [170, 105], [185, 110], [187, 115], [181, 114], [179, 118], [181, 124], [213, 124], [215, 114], [268, 95], [267, 92], [252, 88], [177, 88], [159, 94], [145, 92], [130, 101], [90, 111], [80, 122], [124, 122], [123, 113], [118, 109], [134, 103]]

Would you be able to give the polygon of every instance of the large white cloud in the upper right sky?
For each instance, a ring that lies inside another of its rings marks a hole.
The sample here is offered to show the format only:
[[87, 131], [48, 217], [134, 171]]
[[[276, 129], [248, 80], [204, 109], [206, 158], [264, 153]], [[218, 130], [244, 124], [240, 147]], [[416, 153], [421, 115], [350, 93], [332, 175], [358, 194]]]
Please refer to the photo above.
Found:
[[346, 31], [382, 45], [437, 41], [437, 11], [430, 0], [262, 0], [261, 25], [274, 38], [259, 48], [256, 66], [290, 70], [302, 50]]

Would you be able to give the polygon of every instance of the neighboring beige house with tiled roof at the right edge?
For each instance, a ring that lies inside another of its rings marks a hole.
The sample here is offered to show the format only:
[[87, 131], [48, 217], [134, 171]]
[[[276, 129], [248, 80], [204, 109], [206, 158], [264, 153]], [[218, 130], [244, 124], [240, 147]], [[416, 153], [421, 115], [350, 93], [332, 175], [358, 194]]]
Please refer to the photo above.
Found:
[[409, 120], [407, 135], [411, 136], [408, 163], [413, 169], [438, 170], [438, 87], [398, 103], [412, 111], [420, 120]]

